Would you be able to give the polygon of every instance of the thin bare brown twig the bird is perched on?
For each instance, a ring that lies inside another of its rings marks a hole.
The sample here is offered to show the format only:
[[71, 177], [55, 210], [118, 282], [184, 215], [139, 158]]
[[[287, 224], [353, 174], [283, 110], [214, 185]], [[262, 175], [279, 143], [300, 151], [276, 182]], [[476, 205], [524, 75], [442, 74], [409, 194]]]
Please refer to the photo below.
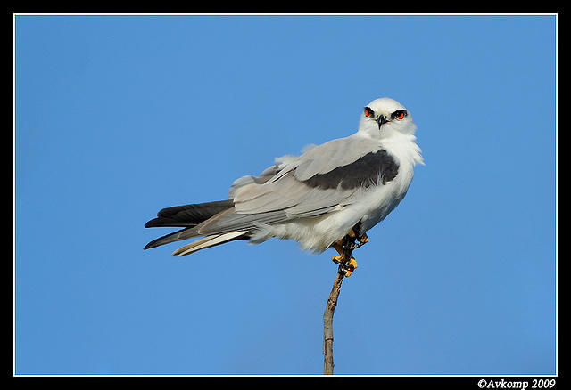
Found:
[[[355, 245], [355, 240], [355, 236], [345, 237], [343, 244], [344, 259], [351, 259], [353, 249], [360, 247], [360, 244]], [[325, 313], [323, 313], [323, 354], [325, 355], [323, 359], [324, 375], [333, 375], [333, 314], [335, 313], [337, 298], [339, 297], [339, 292], [341, 291], [341, 283], [343, 283], [343, 278], [345, 277], [345, 270], [346, 263], [339, 264], [337, 275], [333, 283], [333, 288], [331, 289], [331, 293], [327, 299]]]

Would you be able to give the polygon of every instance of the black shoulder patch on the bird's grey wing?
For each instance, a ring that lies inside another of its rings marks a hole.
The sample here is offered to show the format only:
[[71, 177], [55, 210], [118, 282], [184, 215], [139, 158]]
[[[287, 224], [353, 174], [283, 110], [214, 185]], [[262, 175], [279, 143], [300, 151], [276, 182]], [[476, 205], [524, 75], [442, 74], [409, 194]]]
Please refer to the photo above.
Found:
[[355, 162], [323, 175], [311, 176], [302, 182], [310, 187], [322, 190], [335, 189], [341, 184], [343, 190], [375, 185], [380, 180], [383, 184], [390, 182], [399, 173], [399, 165], [394, 158], [381, 149], [359, 158]]

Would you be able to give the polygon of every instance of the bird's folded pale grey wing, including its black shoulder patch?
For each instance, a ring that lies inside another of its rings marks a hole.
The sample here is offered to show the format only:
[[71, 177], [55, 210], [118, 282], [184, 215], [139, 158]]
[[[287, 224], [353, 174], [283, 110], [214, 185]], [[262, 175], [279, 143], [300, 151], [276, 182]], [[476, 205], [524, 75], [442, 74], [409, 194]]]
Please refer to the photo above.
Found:
[[244, 176], [230, 190], [234, 207], [197, 226], [197, 232], [232, 232], [333, 212], [380, 177], [370, 167], [391, 158], [373, 148], [366, 140], [342, 138], [277, 161], [261, 176]]

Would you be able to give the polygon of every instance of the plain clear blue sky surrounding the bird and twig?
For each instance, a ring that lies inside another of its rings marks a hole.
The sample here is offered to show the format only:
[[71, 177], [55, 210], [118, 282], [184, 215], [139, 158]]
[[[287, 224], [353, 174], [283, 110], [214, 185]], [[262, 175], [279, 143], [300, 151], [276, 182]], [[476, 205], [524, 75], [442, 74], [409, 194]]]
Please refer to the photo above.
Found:
[[555, 374], [555, 22], [16, 16], [15, 373], [322, 373], [332, 249], [144, 224], [389, 96], [426, 166], [355, 253], [335, 373]]

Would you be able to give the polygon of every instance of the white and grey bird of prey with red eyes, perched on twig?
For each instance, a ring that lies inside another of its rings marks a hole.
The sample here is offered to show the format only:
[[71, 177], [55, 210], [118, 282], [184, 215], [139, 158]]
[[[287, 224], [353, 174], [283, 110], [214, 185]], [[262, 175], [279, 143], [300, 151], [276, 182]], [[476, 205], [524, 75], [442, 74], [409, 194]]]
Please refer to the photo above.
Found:
[[414, 166], [424, 165], [416, 128], [400, 102], [375, 99], [362, 110], [355, 133], [275, 158], [260, 175], [236, 179], [228, 199], [162, 208], [145, 228], [182, 229], [144, 249], [197, 239], [172, 253], [187, 256], [234, 240], [259, 244], [276, 237], [314, 254], [335, 248], [339, 255], [332, 260], [350, 276], [358, 264], [346, 256], [345, 244], [367, 243], [368, 230], [406, 195]]

